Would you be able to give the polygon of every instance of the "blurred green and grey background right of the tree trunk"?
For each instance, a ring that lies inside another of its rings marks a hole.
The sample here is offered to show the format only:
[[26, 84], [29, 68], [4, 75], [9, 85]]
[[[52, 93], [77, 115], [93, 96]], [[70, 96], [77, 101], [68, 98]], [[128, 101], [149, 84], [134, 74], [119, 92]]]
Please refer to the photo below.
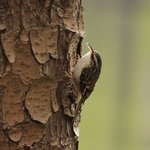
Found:
[[83, 44], [103, 66], [82, 111], [79, 150], [150, 150], [150, 1], [83, 4]]

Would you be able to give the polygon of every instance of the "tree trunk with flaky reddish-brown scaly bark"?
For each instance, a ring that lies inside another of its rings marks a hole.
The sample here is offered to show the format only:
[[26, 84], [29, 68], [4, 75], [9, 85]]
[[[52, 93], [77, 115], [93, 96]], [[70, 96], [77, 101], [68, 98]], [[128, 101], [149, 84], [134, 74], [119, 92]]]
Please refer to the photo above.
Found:
[[81, 0], [0, 0], [0, 150], [77, 150], [70, 78]]

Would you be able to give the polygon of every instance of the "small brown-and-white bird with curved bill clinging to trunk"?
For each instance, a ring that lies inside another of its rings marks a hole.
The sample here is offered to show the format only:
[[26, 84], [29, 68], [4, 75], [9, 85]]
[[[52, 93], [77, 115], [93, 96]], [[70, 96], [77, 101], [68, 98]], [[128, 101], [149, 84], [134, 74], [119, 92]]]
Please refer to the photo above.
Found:
[[100, 54], [93, 50], [89, 44], [87, 46], [90, 51], [79, 59], [73, 71], [73, 79], [78, 91], [76, 103], [79, 106], [77, 107], [81, 107], [80, 105], [92, 93], [102, 66]]

